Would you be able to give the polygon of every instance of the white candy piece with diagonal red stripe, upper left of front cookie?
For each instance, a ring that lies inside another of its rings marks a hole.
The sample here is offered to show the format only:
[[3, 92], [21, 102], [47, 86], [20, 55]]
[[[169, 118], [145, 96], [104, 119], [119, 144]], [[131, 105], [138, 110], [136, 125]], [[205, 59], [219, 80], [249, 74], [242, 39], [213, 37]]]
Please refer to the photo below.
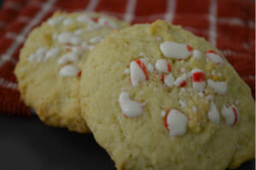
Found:
[[132, 86], [137, 86], [138, 82], [143, 82], [148, 80], [147, 68], [141, 59], [136, 59], [135, 61], [131, 61], [130, 71], [131, 71]]

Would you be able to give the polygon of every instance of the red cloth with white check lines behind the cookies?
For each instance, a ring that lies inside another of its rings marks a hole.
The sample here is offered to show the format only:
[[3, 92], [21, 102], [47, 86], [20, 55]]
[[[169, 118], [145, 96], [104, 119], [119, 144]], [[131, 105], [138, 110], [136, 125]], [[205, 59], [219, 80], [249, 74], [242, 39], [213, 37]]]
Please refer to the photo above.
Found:
[[0, 113], [29, 116], [13, 73], [33, 27], [55, 10], [96, 11], [134, 23], [161, 19], [217, 46], [255, 92], [255, 3], [250, 0], [5, 0], [0, 11]]

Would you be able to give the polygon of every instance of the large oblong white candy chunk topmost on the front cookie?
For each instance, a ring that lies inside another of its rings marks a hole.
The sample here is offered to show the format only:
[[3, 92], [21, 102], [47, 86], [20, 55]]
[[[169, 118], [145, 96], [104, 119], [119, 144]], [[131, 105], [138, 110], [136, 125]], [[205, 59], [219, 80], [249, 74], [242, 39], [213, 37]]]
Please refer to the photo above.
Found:
[[186, 59], [191, 55], [191, 49], [187, 44], [177, 42], [162, 42], [161, 52], [168, 58]]

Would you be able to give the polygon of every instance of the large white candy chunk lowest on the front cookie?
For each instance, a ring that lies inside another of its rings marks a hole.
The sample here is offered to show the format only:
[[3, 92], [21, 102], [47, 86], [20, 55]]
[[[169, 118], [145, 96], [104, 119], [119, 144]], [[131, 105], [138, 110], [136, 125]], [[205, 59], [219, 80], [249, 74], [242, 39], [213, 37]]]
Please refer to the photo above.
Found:
[[171, 109], [166, 116], [166, 128], [171, 136], [181, 136], [187, 131], [188, 118], [183, 113]]

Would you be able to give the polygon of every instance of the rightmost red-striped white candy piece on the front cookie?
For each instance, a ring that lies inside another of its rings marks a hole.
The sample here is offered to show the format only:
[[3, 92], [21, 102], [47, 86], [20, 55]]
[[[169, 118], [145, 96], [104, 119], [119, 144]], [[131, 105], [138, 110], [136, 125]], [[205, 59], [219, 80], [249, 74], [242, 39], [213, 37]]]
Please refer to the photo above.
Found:
[[225, 125], [233, 126], [239, 121], [239, 111], [236, 108], [236, 105], [226, 104], [223, 105], [221, 109], [221, 114], [224, 116]]

